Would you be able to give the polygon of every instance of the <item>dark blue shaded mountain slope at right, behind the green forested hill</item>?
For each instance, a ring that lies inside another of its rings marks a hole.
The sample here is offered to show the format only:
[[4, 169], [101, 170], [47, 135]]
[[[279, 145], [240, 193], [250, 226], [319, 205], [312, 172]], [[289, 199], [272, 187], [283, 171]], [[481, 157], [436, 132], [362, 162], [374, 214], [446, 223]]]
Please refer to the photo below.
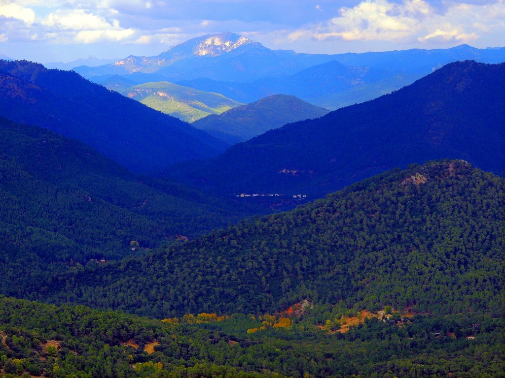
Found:
[[378, 99], [299, 121], [170, 174], [219, 193], [322, 196], [413, 162], [505, 169], [505, 64], [444, 66]]

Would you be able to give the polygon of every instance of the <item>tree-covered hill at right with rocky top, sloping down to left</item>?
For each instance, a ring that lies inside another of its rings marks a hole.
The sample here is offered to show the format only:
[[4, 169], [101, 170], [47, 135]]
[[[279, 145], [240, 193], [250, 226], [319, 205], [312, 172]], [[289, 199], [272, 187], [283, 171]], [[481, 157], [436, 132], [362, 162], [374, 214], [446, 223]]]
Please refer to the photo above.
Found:
[[261, 313], [304, 298], [320, 320], [387, 304], [498, 316], [504, 184], [464, 161], [414, 165], [166, 251], [74, 269], [22, 295], [160, 318]]

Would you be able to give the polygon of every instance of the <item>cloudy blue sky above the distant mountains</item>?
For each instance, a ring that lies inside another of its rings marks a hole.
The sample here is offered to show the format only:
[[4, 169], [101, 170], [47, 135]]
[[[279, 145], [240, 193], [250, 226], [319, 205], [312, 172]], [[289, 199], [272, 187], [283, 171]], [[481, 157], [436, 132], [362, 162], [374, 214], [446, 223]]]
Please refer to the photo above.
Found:
[[307, 53], [505, 46], [505, 0], [0, 0], [0, 54], [154, 56], [233, 32]]

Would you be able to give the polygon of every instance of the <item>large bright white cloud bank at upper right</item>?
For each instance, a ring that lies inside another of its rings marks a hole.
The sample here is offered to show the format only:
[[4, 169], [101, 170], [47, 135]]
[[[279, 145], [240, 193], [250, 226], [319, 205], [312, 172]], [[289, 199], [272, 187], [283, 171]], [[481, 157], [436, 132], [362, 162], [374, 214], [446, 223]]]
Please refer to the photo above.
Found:
[[486, 29], [505, 32], [503, 20], [503, 0], [491, 4], [444, 2], [443, 10], [424, 0], [365, 0], [341, 8], [338, 16], [325, 23], [292, 31], [288, 39], [468, 43], [479, 39]]

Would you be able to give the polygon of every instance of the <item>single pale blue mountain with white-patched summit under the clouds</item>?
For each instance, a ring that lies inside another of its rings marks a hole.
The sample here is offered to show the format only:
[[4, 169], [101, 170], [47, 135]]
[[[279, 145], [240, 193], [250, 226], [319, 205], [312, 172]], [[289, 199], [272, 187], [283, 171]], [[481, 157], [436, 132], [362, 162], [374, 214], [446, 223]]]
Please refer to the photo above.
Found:
[[[261, 77], [294, 74], [332, 60], [330, 55], [299, 54], [270, 50], [261, 43], [233, 33], [193, 38], [157, 56], [133, 56], [100, 67], [75, 67], [86, 78], [156, 73], [170, 82], [208, 78], [226, 81], [251, 81]], [[157, 81], [157, 80], [151, 80]]]

